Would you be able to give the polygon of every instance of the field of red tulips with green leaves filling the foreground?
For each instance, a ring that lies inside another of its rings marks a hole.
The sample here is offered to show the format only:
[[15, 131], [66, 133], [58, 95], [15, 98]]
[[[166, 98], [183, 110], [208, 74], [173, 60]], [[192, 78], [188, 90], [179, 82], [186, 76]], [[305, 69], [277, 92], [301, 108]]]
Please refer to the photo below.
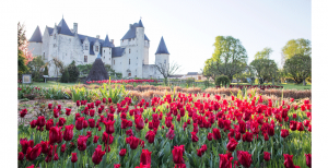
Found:
[[[112, 94], [19, 110], [20, 168], [312, 167], [311, 99]], [[26, 122], [27, 121], [27, 122]]]

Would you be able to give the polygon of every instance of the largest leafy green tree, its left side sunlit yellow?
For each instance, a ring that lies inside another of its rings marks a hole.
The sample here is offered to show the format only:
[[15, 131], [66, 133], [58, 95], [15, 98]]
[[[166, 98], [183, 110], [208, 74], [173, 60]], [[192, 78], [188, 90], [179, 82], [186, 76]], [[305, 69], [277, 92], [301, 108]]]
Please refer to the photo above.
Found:
[[204, 67], [208, 75], [223, 74], [232, 81], [235, 74], [246, 69], [247, 53], [239, 39], [232, 36], [218, 36], [213, 46], [215, 47], [214, 53]]

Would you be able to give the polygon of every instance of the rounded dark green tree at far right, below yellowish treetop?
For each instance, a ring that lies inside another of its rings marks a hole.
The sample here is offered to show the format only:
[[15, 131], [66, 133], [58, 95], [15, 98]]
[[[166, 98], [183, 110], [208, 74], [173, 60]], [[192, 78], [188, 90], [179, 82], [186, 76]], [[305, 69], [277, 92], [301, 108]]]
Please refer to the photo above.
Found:
[[312, 58], [304, 55], [295, 55], [288, 59], [283, 65], [285, 75], [295, 81], [296, 84], [303, 82], [306, 85], [305, 79], [312, 75]]

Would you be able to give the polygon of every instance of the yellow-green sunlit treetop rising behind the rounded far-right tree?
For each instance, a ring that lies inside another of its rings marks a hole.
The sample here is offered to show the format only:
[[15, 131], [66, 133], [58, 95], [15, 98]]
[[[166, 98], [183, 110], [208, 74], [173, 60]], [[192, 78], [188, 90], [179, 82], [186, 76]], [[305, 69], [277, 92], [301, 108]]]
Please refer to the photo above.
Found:
[[312, 45], [311, 40], [298, 38], [291, 39], [282, 48], [282, 55], [284, 61], [291, 59], [295, 55], [312, 56]]

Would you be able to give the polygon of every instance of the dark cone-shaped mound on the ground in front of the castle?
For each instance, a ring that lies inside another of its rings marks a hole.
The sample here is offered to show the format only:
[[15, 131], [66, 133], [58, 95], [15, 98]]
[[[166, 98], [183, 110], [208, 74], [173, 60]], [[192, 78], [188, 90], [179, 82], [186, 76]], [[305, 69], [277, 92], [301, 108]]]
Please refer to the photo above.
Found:
[[97, 58], [92, 64], [86, 81], [103, 81], [103, 80], [109, 80], [109, 76], [102, 61], [101, 55], [98, 53]]

